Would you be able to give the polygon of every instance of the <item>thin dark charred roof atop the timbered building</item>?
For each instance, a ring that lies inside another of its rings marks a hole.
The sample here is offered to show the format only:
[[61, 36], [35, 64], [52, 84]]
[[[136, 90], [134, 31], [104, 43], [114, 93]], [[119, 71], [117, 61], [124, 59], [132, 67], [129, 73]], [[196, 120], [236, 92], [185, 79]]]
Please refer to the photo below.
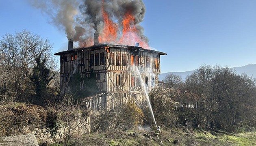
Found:
[[159, 51], [154, 51], [154, 50], [151, 50], [151, 49], [144, 49], [142, 47], [139, 47], [139, 46], [129, 46], [129, 45], [111, 45], [111, 44], [99, 44], [99, 45], [93, 45], [93, 46], [90, 46], [90, 47], [83, 47], [83, 48], [74, 48], [72, 50], [67, 50], [67, 51], [63, 51], [63, 52], [58, 52], [58, 53], [55, 53], [54, 55], [62, 55], [62, 54], [66, 54], [66, 53], [69, 53], [69, 52], [78, 52], [78, 51], [91, 51], [91, 50], [94, 50], [94, 49], [99, 49], [101, 47], [115, 47], [115, 48], [120, 48], [120, 49], [139, 49], [140, 51], [146, 51], [146, 52], [155, 52], [155, 53], [158, 53], [159, 55], [167, 55], [166, 53], [164, 52], [159, 52]]

